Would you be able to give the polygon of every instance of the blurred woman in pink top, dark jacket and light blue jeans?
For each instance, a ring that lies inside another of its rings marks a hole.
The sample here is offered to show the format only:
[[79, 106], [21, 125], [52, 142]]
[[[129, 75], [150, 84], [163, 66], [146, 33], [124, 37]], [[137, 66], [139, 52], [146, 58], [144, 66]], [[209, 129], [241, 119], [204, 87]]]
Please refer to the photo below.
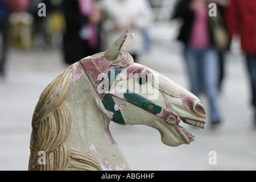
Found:
[[205, 0], [181, 0], [174, 18], [183, 19], [178, 40], [184, 43], [191, 92], [199, 97], [203, 91], [209, 100], [210, 121], [220, 123], [218, 109], [218, 79], [220, 63], [215, 48], [213, 32], [209, 27], [208, 3]]

